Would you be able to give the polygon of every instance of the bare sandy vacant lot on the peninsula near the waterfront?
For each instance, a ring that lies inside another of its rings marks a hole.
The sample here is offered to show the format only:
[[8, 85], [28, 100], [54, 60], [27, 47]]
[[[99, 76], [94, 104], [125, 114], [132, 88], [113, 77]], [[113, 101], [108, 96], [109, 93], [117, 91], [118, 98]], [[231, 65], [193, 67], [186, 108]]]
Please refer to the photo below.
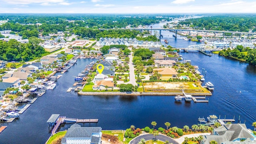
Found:
[[189, 88], [188, 83], [186, 82], [148, 82], [144, 85], [144, 88], [150, 89], [180, 89], [180, 88]]

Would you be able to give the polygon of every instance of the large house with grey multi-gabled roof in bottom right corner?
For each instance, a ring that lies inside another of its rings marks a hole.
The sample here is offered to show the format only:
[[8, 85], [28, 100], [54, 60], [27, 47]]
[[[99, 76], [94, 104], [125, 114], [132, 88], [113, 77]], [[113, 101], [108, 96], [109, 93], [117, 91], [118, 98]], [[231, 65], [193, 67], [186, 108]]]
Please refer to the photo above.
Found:
[[236, 142], [241, 142], [241, 140], [254, 141], [256, 143], [256, 137], [251, 130], [246, 128], [245, 124], [224, 124], [214, 128], [213, 135], [203, 136], [201, 144], [210, 144], [211, 140], [218, 142], [218, 144], [235, 144]]

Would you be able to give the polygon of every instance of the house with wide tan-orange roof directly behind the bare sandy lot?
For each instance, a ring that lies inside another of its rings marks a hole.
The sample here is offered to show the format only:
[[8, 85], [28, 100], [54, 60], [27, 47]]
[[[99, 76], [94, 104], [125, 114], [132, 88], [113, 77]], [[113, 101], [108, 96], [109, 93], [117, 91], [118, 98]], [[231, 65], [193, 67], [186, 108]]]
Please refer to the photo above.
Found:
[[176, 78], [178, 72], [174, 68], [154, 68], [154, 73], [157, 71], [162, 79]]

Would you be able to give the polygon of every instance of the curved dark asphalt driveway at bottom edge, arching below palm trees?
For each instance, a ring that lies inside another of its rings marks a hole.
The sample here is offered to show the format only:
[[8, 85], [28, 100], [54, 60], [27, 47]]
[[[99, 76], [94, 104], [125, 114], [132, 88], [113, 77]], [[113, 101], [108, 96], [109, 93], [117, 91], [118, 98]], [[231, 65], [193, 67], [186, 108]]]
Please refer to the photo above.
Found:
[[[132, 139], [129, 144], [138, 144], [138, 142], [140, 141], [140, 139], [144, 138], [146, 141], [147, 140], [152, 140], [152, 138], [155, 138], [155, 136], [153, 134], [144, 134], [144, 135], [141, 135], [141, 136], [138, 136], [134, 139]], [[165, 142], [166, 140], [169, 141], [169, 144], [172, 143], [172, 144], [179, 144], [178, 142], [176, 142], [174, 139], [170, 138], [169, 136], [165, 136], [165, 135], [162, 135], [162, 134], [159, 134], [159, 136], [156, 136], [156, 139], [157, 140], [161, 140], [163, 142]]]

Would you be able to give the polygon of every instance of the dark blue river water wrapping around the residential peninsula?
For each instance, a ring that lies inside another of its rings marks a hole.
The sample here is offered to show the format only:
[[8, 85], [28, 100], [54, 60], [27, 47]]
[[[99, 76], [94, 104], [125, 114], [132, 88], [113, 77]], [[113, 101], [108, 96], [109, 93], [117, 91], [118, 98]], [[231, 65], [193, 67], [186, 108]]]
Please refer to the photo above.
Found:
[[[169, 32], [170, 33], [170, 32]], [[162, 32], [163, 34], [163, 32]], [[171, 33], [170, 33], [171, 34]], [[168, 35], [167, 35], [168, 36]], [[170, 35], [169, 35], [170, 36]], [[164, 35], [166, 37], [166, 35]], [[184, 40], [169, 41], [174, 47], [188, 46]], [[74, 84], [74, 77], [81, 72], [92, 59], [78, 59], [77, 64], [56, 82], [54, 90], [48, 90], [28, 108], [20, 118], [12, 123], [4, 123], [8, 128], [0, 134], [1, 144], [44, 144], [52, 128], [46, 121], [52, 114], [69, 118], [98, 118], [97, 124], [82, 126], [101, 126], [103, 130], [125, 130], [130, 125], [136, 128], [151, 126], [156, 128], [171, 126], [183, 128], [184, 125], [197, 124], [198, 117], [215, 114], [221, 118], [234, 118], [253, 128], [256, 121], [256, 67], [237, 60], [212, 54], [211, 57], [199, 52], [180, 52], [186, 60], [192, 60], [202, 72], [204, 68], [206, 82], [214, 84], [208, 103], [175, 102], [174, 96], [78, 96], [66, 90]], [[64, 124], [60, 130], [66, 130], [71, 124]]]

